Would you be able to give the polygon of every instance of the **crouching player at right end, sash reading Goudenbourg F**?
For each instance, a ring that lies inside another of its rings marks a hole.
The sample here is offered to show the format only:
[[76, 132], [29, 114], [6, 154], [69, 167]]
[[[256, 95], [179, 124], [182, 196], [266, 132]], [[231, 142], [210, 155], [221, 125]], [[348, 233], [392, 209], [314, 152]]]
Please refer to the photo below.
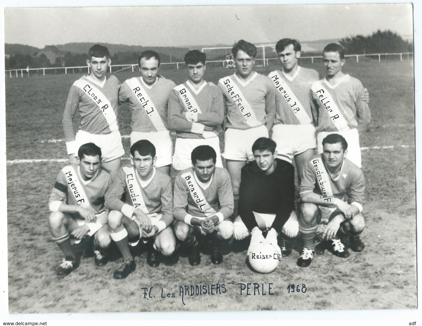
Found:
[[322, 140], [322, 146], [322, 154], [311, 158], [305, 166], [299, 187], [299, 229], [303, 251], [298, 265], [301, 267], [311, 264], [315, 234], [321, 221], [328, 221], [322, 239], [330, 242], [330, 250], [336, 256], [349, 257], [349, 251], [337, 234], [349, 235], [353, 251], [365, 248], [358, 235], [365, 227], [363, 173], [346, 159], [347, 142], [343, 136], [330, 134]]

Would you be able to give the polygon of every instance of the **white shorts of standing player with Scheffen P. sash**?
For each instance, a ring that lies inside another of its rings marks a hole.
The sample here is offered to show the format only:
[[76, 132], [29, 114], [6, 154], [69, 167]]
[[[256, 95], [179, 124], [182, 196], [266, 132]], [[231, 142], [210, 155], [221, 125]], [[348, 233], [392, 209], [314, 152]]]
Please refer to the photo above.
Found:
[[223, 157], [234, 161], [253, 161], [252, 145], [260, 137], [268, 137], [265, 125], [245, 130], [227, 129], [224, 133]]

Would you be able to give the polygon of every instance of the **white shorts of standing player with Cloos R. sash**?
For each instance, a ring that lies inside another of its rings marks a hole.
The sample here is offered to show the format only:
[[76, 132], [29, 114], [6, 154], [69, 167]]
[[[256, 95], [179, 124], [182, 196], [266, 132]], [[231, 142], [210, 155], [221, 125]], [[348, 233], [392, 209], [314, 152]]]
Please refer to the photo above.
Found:
[[124, 155], [122, 137], [119, 131], [106, 135], [95, 135], [78, 130], [75, 136], [75, 156], [78, 156], [79, 147], [86, 143], [94, 143], [101, 148], [101, 162], [110, 162]]

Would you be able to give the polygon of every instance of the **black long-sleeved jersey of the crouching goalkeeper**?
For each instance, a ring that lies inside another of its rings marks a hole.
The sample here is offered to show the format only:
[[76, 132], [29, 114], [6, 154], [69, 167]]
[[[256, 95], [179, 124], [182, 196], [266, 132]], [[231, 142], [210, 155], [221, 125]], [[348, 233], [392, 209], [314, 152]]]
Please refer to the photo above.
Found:
[[276, 214], [272, 228], [281, 231], [295, 209], [295, 168], [275, 159], [276, 168], [266, 175], [255, 161], [241, 170], [239, 215], [249, 230], [258, 226], [253, 212]]

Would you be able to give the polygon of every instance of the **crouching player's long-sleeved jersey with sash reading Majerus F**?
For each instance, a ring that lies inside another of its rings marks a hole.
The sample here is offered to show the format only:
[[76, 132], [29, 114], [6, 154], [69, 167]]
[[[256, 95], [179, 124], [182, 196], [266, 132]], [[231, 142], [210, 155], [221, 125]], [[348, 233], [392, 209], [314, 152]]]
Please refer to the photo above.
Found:
[[[70, 167], [73, 167], [75, 174], [70, 172]], [[79, 181], [79, 185], [83, 189], [77, 189], [76, 180]], [[57, 211], [62, 203], [79, 206], [82, 202], [81, 199], [84, 199], [84, 202], [89, 202], [93, 213], [103, 213], [106, 209], [104, 196], [110, 189], [111, 176], [106, 171], [98, 169], [91, 179], [84, 181], [79, 166], [68, 165], [57, 174], [56, 183], [54, 183], [54, 188], [50, 194], [49, 208], [51, 211]], [[86, 198], [83, 198], [82, 193], [86, 195]], [[70, 215], [73, 215], [73, 213], [70, 213]]]

